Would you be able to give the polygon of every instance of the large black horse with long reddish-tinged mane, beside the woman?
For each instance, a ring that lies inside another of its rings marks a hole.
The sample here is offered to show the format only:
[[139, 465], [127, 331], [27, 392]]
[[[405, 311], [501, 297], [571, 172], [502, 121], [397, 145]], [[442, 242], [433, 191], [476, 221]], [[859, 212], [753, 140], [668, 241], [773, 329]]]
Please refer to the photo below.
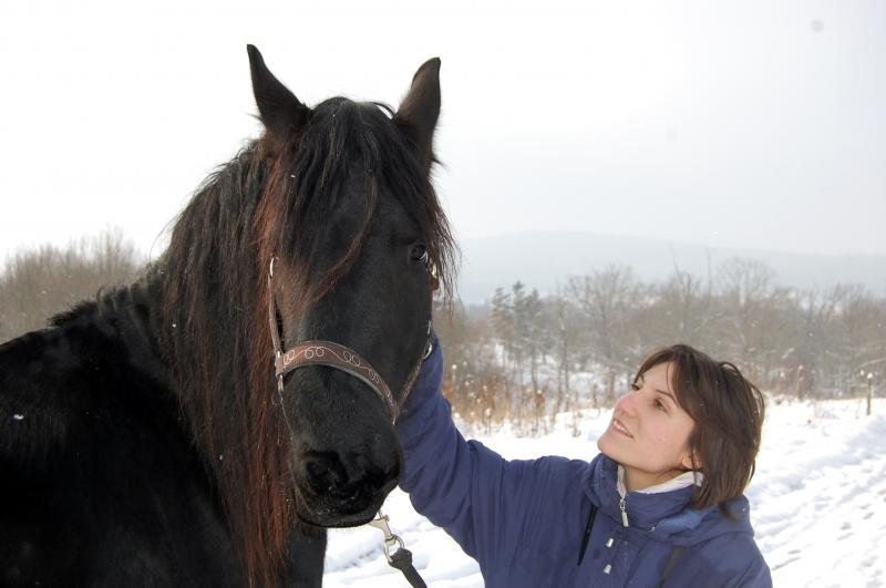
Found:
[[[248, 49], [265, 132], [168, 249], [0, 345], [2, 586], [319, 586], [324, 527], [367, 523], [396, 484], [429, 268], [447, 288], [454, 251], [430, 183], [440, 61], [396, 112], [309, 109]], [[374, 369], [278, 376], [278, 331]]]

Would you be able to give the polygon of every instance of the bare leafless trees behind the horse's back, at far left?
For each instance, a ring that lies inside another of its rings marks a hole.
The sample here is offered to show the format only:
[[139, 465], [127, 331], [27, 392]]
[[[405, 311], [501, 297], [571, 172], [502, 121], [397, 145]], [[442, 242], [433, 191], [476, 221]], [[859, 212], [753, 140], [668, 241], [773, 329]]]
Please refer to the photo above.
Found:
[[17, 251], [0, 272], [0, 342], [45, 327], [53, 314], [95, 298], [100, 288], [133, 281], [143, 262], [119, 229], [68, 247]]

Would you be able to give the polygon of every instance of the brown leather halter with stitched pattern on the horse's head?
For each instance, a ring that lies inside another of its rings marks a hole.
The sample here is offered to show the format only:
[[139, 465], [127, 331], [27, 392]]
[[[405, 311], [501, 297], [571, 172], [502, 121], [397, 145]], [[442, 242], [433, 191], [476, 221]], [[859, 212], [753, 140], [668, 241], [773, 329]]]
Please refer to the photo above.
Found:
[[[427, 264], [427, 252], [425, 255], [425, 264]], [[357, 351], [334, 343], [332, 341], [310, 340], [302, 341], [291, 349], [284, 351], [279, 327], [277, 324], [277, 305], [274, 301], [274, 287], [271, 280], [274, 279], [274, 261], [277, 258], [271, 258], [270, 267], [268, 268], [268, 319], [270, 321], [270, 337], [274, 341], [274, 367], [277, 375], [277, 391], [282, 394], [284, 391], [284, 376], [305, 365], [327, 365], [341, 370], [354, 378], [358, 378], [370, 390], [372, 390], [379, 399], [381, 399], [384, 406], [391, 415], [391, 422], [396, 422], [396, 416], [400, 414], [400, 406], [394, 400], [391, 389], [384, 379], [375, 371], [374, 368], [363, 359]], [[437, 277], [436, 268], [429, 265], [429, 274], [431, 275], [431, 287], [436, 290]], [[403, 393], [401, 394], [400, 403], [406, 401], [406, 396], [415, 383], [415, 378], [419, 376], [422, 362], [433, 351], [433, 343], [431, 340], [431, 321], [427, 321], [427, 341], [424, 345], [423, 353], [415, 362], [415, 365], [409, 373], [405, 383], [403, 384]], [[282, 396], [281, 396], [282, 400]]]

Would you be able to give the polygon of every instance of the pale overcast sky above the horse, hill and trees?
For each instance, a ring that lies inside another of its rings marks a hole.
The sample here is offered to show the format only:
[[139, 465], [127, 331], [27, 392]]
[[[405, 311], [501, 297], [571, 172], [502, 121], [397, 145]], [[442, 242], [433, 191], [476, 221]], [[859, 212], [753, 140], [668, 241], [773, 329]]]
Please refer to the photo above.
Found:
[[147, 251], [259, 132], [246, 43], [309, 104], [396, 105], [442, 58], [462, 237], [886, 254], [882, 0], [237, 4], [0, 4], [0, 258], [106, 226]]

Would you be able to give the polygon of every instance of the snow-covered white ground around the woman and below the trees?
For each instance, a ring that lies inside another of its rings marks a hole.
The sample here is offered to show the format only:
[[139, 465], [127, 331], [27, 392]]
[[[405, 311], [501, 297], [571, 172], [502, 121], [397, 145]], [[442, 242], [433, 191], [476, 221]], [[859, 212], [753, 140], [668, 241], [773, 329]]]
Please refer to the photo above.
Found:
[[[756, 475], [748, 488], [756, 540], [775, 586], [886, 586], [886, 399], [865, 416], [863, 401], [771, 401]], [[477, 436], [508, 458], [545, 454], [589, 458], [609, 413], [591, 411], [581, 435], [566, 425], [544, 437], [506, 431]], [[471, 436], [470, 434], [467, 436]], [[385, 514], [429, 586], [478, 588], [476, 563], [394, 491]], [[381, 533], [330, 533], [324, 586], [408, 587], [381, 551]]]

